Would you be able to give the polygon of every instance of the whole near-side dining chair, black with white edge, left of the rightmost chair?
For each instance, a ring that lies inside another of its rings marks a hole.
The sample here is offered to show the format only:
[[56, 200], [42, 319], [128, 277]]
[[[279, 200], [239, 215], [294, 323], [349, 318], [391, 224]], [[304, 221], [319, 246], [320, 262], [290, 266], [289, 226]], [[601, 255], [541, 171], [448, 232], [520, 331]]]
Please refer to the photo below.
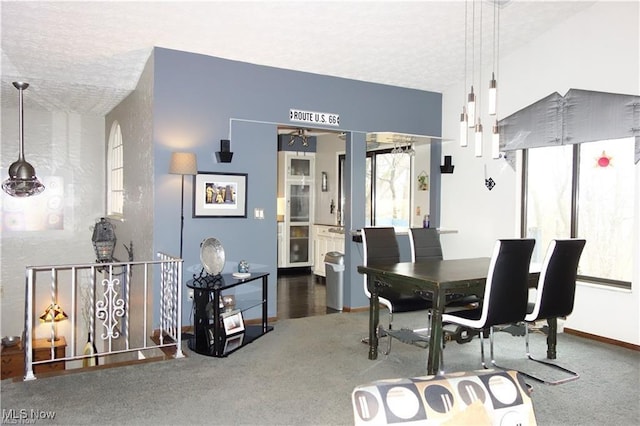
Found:
[[[484, 333], [489, 331], [491, 363], [498, 367], [493, 357], [493, 326], [520, 323], [527, 314], [529, 266], [534, 245], [535, 240], [530, 238], [496, 241], [480, 306], [442, 315], [443, 325], [455, 324], [478, 332], [484, 368], [489, 368], [484, 359]], [[443, 360], [442, 355], [440, 359]], [[443, 365], [441, 362], [441, 369]]]

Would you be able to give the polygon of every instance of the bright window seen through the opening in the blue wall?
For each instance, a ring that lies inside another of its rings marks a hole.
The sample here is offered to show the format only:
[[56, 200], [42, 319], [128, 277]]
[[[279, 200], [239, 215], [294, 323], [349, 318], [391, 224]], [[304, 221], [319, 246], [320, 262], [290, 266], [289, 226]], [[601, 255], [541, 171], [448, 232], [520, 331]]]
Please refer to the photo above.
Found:
[[[411, 220], [411, 155], [391, 149], [367, 152], [365, 226], [409, 227]], [[340, 156], [340, 212], [344, 211], [343, 167]]]

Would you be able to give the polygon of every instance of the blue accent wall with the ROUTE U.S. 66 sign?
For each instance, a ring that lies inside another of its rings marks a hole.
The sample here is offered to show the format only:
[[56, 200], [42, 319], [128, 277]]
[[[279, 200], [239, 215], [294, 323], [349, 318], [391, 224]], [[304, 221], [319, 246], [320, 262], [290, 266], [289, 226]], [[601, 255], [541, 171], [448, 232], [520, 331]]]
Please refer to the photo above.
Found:
[[[277, 124], [289, 110], [340, 115], [334, 130], [354, 132], [347, 146], [347, 229], [364, 224], [364, 134], [373, 131], [441, 136], [442, 95], [350, 79], [266, 67], [164, 48], [154, 50], [154, 252], [179, 253], [180, 177], [169, 175], [174, 151], [194, 152], [199, 171], [248, 174], [247, 218], [192, 218], [192, 178], [185, 180], [185, 282], [200, 271], [200, 242], [219, 239], [225, 272], [247, 260], [253, 271], [269, 272], [269, 316], [276, 316]], [[218, 163], [220, 139], [231, 140], [233, 161]], [[362, 185], [361, 185], [362, 183]], [[264, 209], [263, 220], [254, 209]], [[347, 241], [349, 239], [347, 238]], [[345, 302], [368, 304], [362, 291], [361, 263], [354, 244], [346, 245]], [[256, 289], [244, 289], [251, 293]], [[190, 302], [183, 307], [190, 324]], [[256, 311], [255, 317], [258, 316]]]

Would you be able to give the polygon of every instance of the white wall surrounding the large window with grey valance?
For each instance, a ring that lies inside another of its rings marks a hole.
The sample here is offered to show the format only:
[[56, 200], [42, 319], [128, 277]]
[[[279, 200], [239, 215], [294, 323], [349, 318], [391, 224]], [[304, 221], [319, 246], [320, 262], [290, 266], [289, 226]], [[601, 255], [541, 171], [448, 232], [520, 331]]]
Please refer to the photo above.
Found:
[[[639, 94], [639, 16], [638, 2], [598, 3], [532, 39], [516, 53], [500, 57], [498, 114], [508, 116], [554, 91], [564, 95], [570, 88]], [[489, 75], [489, 71], [483, 75]], [[462, 86], [461, 82], [444, 92], [445, 139], [459, 141]], [[483, 117], [483, 123], [488, 136], [488, 117]], [[442, 177], [441, 226], [459, 231], [442, 237], [447, 257], [487, 256], [497, 238], [519, 236], [519, 171], [512, 170], [504, 160], [492, 160], [489, 144], [485, 138], [482, 158], [474, 157], [471, 143], [467, 148], [461, 148], [458, 142], [443, 144], [444, 154], [453, 157], [455, 172]], [[484, 186], [485, 166], [486, 176], [497, 184], [492, 191]], [[636, 165], [632, 290], [579, 283], [574, 312], [565, 323], [568, 328], [636, 345], [640, 344], [638, 168]]]

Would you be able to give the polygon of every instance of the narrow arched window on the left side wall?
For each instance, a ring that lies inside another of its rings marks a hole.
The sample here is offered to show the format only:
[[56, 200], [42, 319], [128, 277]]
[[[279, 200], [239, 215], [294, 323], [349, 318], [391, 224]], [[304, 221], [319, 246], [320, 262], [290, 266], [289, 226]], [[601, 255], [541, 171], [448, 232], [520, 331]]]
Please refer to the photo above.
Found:
[[114, 122], [107, 152], [107, 215], [122, 217], [124, 200], [124, 156], [120, 124]]

